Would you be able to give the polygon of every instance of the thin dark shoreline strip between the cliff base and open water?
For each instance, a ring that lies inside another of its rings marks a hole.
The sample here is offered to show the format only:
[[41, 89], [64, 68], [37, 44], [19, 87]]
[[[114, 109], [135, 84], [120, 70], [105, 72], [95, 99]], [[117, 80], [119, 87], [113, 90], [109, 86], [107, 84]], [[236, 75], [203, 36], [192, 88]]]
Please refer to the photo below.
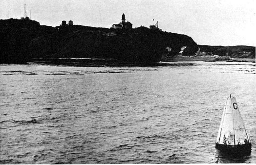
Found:
[[[168, 62], [182, 62], [182, 63], [168, 63]], [[186, 63], [187, 62], [187, 63]], [[116, 59], [89, 59], [89, 58], [60, 58], [60, 59], [48, 59], [40, 58], [33, 59], [27, 63], [35, 63], [40, 65], [57, 65], [57, 66], [74, 66], [74, 67], [155, 67], [155, 66], [176, 66], [176, 65], [194, 65], [191, 62], [228, 62], [227, 64], [232, 64], [232, 62], [250, 62], [256, 63], [256, 59], [232, 59], [232, 60], [222, 60], [214, 61], [207, 60], [205, 58], [173, 58], [168, 60], [161, 60], [159, 62], [152, 63], [134, 63], [134, 62], [120, 62]], [[1, 63], [2, 64], [16, 64], [16, 63]], [[18, 64], [18, 63], [17, 63]], [[20, 63], [21, 64], [21, 63]]]

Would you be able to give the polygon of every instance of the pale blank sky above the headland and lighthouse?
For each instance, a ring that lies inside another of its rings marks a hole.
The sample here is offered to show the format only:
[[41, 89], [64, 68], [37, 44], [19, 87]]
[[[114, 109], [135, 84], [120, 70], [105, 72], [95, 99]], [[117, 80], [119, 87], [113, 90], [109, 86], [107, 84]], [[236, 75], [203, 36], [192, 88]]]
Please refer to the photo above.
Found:
[[133, 28], [155, 24], [197, 44], [256, 46], [256, 0], [0, 0], [0, 19], [27, 16], [41, 25], [62, 21], [106, 27], [122, 14]]

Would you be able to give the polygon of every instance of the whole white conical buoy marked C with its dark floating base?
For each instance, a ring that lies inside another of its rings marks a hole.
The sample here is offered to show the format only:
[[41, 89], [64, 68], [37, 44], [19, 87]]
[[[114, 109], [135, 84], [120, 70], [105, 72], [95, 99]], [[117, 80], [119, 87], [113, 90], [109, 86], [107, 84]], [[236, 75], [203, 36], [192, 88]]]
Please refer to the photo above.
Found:
[[230, 154], [251, 154], [250, 138], [245, 130], [235, 97], [231, 95], [225, 103], [215, 148]]

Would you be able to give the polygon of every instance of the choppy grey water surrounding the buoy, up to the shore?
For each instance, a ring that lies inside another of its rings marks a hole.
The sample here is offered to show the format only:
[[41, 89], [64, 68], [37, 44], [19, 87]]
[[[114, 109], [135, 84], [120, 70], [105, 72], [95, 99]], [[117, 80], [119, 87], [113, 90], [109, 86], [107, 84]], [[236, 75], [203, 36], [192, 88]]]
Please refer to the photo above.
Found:
[[[190, 63], [0, 65], [0, 163], [256, 163], [255, 64]], [[250, 156], [215, 149], [230, 94]]]

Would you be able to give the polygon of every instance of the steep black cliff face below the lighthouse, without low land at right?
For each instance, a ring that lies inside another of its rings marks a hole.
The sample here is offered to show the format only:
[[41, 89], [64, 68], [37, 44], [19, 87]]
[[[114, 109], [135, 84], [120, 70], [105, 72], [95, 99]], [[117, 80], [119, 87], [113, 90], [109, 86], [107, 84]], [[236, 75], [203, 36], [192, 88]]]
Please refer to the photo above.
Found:
[[103, 58], [120, 62], [150, 63], [160, 60], [167, 46], [178, 54], [197, 50], [191, 37], [157, 29], [129, 30], [81, 25], [41, 26], [31, 20], [0, 20], [0, 63], [23, 63], [31, 58]]

